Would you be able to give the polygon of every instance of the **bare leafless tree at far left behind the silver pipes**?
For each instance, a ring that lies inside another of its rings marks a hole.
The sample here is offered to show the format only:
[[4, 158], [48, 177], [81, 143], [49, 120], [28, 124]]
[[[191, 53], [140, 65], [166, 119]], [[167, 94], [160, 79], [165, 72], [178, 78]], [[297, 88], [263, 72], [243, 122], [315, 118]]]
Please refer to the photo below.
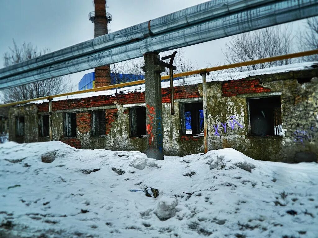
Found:
[[[21, 47], [17, 46], [13, 40], [13, 48], [3, 56], [4, 66], [20, 63], [48, 52], [47, 49], [37, 50], [31, 43], [23, 43]], [[68, 88], [64, 77], [55, 77], [43, 81], [29, 83], [2, 91], [2, 101], [15, 102], [42, 96], [49, 96], [65, 92]]]

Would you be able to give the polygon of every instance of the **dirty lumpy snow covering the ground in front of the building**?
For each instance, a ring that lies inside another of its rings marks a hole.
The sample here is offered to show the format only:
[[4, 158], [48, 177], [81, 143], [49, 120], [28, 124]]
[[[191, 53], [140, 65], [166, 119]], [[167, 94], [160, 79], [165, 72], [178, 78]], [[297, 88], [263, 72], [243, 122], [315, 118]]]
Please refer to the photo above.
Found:
[[[42, 162], [50, 151], [55, 160]], [[0, 237], [318, 237], [314, 162], [255, 161], [234, 149], [156, 161], [7, 142], [0, 181]], [[146, 187], [159, 196], [130, 191]]]

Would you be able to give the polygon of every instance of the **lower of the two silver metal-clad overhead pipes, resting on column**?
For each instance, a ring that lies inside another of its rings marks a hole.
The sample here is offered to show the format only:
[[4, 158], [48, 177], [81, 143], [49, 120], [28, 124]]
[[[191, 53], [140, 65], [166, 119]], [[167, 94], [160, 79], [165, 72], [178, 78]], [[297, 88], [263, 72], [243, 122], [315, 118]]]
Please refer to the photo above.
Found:
[[20, 75], [6, 77], [0, 79], [0, 89], [141, 57], [147, 52], [172, 50], [316, 15], [318, 15], [318, 0], [286, 0], [269, 3]]

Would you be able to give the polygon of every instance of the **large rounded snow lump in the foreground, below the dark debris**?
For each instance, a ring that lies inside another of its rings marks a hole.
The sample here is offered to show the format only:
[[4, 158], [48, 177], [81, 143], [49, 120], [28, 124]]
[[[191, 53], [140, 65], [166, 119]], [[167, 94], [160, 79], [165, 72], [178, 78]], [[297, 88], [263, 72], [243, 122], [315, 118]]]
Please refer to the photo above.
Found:
[[178, 201], [176, 198], [172, 197], [162, 197], [157, 205], [157, 209], [155, 214], [161, 221], [168, 220], [171, 217], [176, 215], [176, 206], [178, 205]]

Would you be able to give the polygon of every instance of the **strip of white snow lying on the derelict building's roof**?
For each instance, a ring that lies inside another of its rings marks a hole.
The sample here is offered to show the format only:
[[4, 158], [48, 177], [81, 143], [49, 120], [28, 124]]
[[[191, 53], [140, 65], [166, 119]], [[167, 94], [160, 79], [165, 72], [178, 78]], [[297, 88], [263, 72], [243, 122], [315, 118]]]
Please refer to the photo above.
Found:
[[[266, 69], [257, 69], [252, 71], [245, 71], [245, 72], [235, 72], [235, 73], [223, 73], [223, 74], [212, 74], [207, 75], [206, 81], [229, 81], [229, 80], [239, 80], [248, 76], [258, 76], [264, 74], [274, 74], [274, 73], [282, 73], [282, 72], [289, 72], [289, 71], [297, 71], [303, 69], [312, 69], [314, 66], [317, 66], [318, 62], [305, 62], [305, 63], [294, 63], [288, 64], [283, 66], [276, 66]], [[183, 86], [183, 85], [193, 85], [202, 83], [202, 76], [190, 77], [185, 78], [184, 82], [183, 79], [175, 80], [173, 85], [176, 86]], [[170, 82], [162, 82], [162, 88], [169, 88]], [[121, 89], [117, 89], [117, 93], [120, 94], [127, 94], [131, 92], [144, 92], [145, 91], [145, 84], [142, 85], [134, 85], [129, 87], [124, 87]], [[93, 97], [93, 96], [100, 96], [100, 95], [109, 95], [113, 96], [116, 93], [116, 89], [105, 90], [105, 91], [98, 91], [98, 92], [89, 92], [89, 93], [82, 93], [82, 94], [75, 94], [70, 96], [61, 96], [61, 97], [54, 97], [54, 101], [61, 101], [67, 99], [79, 99], [85, 97]], [[47, 100], [38, 100], [30, 103], [40, 104], [43, 102], [47, 102]]]

